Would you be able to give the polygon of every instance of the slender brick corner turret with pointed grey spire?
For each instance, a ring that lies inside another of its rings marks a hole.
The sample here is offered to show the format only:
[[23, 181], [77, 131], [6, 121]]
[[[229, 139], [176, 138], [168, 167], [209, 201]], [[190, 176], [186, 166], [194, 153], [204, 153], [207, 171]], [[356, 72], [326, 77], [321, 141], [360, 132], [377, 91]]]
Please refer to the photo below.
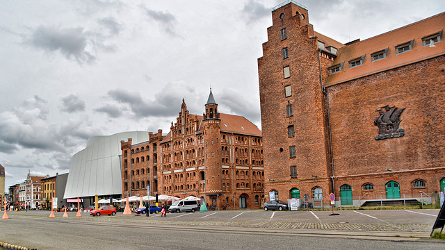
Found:
[[220, 157], [220, 113], [218, 113], [218, 103], [213, 98], [213, 94], [210, 90], [209, 99], [205, 104], [204, 119], [202, 120], [202, 126], [204, 128], [204, 163], [205, 163], [205, 176], [206, 176], [206, 195], [207, 202], [210, 205], [216, 202], [222, 194], [222, 181], [221, 175], [223, 174], [221, 169], [221, 157]]

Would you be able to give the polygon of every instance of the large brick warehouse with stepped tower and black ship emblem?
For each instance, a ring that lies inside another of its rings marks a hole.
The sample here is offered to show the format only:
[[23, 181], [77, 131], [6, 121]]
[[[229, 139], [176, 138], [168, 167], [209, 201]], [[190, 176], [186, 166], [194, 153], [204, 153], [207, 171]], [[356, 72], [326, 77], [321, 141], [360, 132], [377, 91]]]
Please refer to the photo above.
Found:
[[265, 191], [314, 205], [445, 190], [445, 13], [341, 44], [274, 8], [258, 59]]

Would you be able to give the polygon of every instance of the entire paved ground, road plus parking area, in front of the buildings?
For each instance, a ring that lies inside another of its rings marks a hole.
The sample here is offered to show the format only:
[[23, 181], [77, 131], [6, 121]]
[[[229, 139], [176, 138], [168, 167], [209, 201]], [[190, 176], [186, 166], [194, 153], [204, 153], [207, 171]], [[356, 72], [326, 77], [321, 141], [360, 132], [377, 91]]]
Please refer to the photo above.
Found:
[[[0, 241], [38, 249], [445, 249], [428, 240], [439, 210], [178, 213], [145, 217], [49, 218], [48, 211], [8, 213]], [[124, 243], [125, 242], [125, 243]]]

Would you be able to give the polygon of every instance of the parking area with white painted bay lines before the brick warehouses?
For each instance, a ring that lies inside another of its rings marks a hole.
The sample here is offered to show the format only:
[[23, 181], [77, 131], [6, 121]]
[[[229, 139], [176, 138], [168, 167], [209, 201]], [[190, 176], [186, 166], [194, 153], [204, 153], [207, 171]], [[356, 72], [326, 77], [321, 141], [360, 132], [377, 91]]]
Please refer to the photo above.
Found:
[[[264, 211], [264, 210], [227, 210], [207, 211], [204, 213], [168, 213], [167, 217], [160, 214], [152, 214], [148, 218], [145, 215], [122, 215], [118, 213], [114, 217], [125, 219], [150, 219], [163, 220], [165, 222], [248, 222], [248, 223], [302, 223], [302, 224], [422, 224], [433, 225], [439, 213], [439, 209], [425, 210], [345, 210], [334, 211], [339, 215], [331, 215], [332, 211]], [[14, 215], [29, 215], [47, 217], [49, 211], [33, 210], [29, 212], [10, 212]], [[76, 217], [76, 213], [67, 213], [70, 218]], [[62, 217], [63, 212], [54, 213], [56, 217]], [[82, 217], [90, 217], [88, 213], [82, 213]], [[95, 217], [97, 218], [97, 217]], [[91, 217], [91, 219], [93, 219]]]

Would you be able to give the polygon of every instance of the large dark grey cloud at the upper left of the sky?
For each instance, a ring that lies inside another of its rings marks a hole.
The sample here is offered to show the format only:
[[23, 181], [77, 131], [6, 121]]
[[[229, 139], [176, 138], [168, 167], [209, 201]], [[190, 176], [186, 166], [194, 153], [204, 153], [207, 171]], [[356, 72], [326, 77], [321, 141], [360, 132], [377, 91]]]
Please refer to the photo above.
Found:
[[38, 26], [31, 34], [31, 44], [45, 51], [60, 51], [67, 59], [75, 59], [79, 63], [90, 63], [95, 60], [86, 51], [87, 38], [83, 28], [58, 29]]

